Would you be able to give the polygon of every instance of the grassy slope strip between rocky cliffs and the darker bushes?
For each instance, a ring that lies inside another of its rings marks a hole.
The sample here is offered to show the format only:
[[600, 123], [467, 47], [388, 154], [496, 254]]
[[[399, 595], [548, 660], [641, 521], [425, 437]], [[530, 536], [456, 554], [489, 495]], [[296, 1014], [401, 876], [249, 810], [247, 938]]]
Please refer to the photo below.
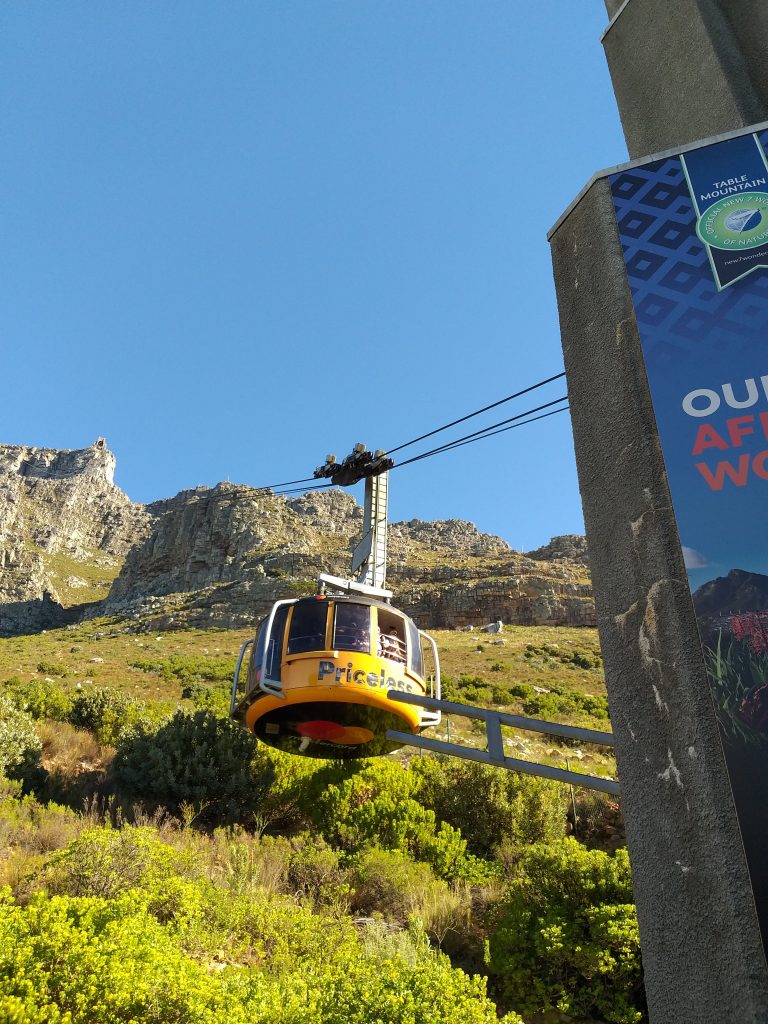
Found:
[[[233, 670], [240, 646], [249, 636], [248, 630], [136, 635], [122, 633], [122, 628], [119, 621], [94, 620], [76, 629], [0, 640], [0, 683], [11, 677], [24, 681], [48, 677], [60, 680], [60, 685], [70, 690], [79, 682], [84, 688], [116, 687], [145, 700], [180, 701], [181, 684], [169, 678], [168, 672], [163, 673], [164, 662], [182, 658], [194, 674], [199, 660], [207, 666], [221, 667], [226, 666], [228, 659]], [[543, 689], [557, 686], [566, 692], [595, 697], [605, 695], [602, 670], [578, 664], [580, 660], [599, 660], [595, 630], [508, 626], [500, 637], [459, 631], [435, 631], [433, 635], [440, 651], [442, 674], [447, 681], [445, 689], [450, 696], [459, 696], [467, 703], [493, 705], [513, 714], [525, 714], [524, 698], [509, 696], [502, 703], [494, 703], [490, 689], [496, 687], [498, 696], [498, 688], [508, 689], [520, 683]], [[93, 662], [93, 658], [102, 660]], [[141, 663], [143, 668], [135, 668], [136, 663]], [[226, 675], [230, 675], [229, 670]], [[218, 685], [225, 687], [226, 683]], [[549, 717], [588, 728], [610, 728], [604, 718], [583, 710], [555, 711]], [[473, 746], [484, 745], [481, 724], [468, 719], [444, 720], [429, 734]], [[615, 770], [607, 749], [580, 749], [527, 731], [509, 730], [507, 750], [523, 760], [560, 766], [564, 766], [568, 758], [571, 767], [588, 773], [613, 775]], [[399, 756], [408, 755], [403, 752]]]

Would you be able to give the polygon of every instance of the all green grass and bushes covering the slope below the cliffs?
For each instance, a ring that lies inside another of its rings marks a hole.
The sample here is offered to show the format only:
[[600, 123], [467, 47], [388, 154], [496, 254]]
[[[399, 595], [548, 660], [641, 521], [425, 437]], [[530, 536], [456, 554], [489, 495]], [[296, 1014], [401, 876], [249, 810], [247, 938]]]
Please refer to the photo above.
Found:
[[[0, 1020], [644, 1019], [626, 855], [558, 785], [272, 751], [225, 717], [240, 634], [121, 628], [0, 643]], [[439, 635], [460, 697], [605, 728], [594, 634], [539, 634]]]

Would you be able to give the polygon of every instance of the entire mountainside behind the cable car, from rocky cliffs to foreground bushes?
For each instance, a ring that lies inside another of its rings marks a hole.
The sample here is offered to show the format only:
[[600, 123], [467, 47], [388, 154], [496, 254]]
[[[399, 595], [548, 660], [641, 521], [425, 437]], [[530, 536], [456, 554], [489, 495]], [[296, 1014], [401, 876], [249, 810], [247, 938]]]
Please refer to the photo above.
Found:
[[[644, 1020], [613, 800], [408, 748], [309, 761], [228, 720], [255, 618], [346, 572], [349, 495], [219, 484], [142, 507], [104, 444], [2, 453], [0, 1017]], [[609, 728], [583, 539], [524, 555], [411, 520], [389, 544], [444, 697]], [[458, 715], [432, 735], [484, 744]], [[615, 775], [608, 748], [503, 742]]]

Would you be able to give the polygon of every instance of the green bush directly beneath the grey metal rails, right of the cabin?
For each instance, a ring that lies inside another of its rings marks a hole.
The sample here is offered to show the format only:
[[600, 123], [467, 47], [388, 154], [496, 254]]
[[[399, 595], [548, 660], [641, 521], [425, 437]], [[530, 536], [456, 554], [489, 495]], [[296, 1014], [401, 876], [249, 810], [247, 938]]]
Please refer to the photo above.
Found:
[[521, 850], [565, 836], [566, 791], [558, 782], [472, 761], [415, 761], [419, 799], [467, 838], [469, 849], [490, 857], [500, 845]]

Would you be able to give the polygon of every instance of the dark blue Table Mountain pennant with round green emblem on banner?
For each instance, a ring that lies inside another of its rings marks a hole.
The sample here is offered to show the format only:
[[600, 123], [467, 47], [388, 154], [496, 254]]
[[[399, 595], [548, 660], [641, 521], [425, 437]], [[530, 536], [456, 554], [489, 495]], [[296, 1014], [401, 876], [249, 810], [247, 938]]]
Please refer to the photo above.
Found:
[[768, 266], [768, 160], [757, 135], [680, 157], [718, 290]]

